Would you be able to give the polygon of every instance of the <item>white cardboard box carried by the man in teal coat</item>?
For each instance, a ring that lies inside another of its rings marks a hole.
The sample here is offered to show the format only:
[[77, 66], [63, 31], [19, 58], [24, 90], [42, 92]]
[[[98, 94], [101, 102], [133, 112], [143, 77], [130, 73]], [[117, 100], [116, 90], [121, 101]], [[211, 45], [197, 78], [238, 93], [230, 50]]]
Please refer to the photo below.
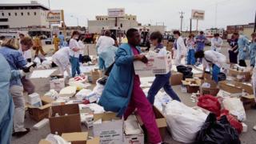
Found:
[[171, 56], [158, 57], [155, 55], [146, 55], [148, 63], [134, 61], [135, 74], [145, 77], [154, 76], [155, 74], [167, 74], [170, 72]]

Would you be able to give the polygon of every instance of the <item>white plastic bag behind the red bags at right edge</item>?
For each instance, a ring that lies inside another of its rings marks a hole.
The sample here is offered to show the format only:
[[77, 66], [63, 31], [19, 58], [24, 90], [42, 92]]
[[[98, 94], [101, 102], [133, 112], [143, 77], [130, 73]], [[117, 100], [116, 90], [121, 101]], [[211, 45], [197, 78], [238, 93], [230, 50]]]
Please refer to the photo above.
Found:
[[224, 108], [230, 111], [230, 114], [238, 117], [239, 121], [246, 121], [246, 111], [240, 98], [224, 98], [222, 103]]

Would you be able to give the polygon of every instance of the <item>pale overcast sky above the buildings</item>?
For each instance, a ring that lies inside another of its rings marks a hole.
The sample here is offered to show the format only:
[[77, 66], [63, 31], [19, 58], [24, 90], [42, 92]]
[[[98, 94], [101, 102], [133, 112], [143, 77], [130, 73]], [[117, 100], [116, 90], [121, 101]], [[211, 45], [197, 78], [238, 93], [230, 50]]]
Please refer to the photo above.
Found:
[[[30, 0], [0, 0], [0, 3], [27, 3]], [[38, 0], [49, 6], [48, 0]], [[189, 30], [191, 10], [205, 10], [204, 21], [199, 21], [200, 30], [215, 26], [254, 22], [256, 0], [50, 0], [52, 10], [64, 10], [67, 26], [86, 26], [86, 18], [95, 19], [96, 15], [106, 15], [108, 8], [125, 8], [126, 14], [137, 15], [142, 25], [155, 25], [164, 22], [167, 30], [180, 29], [180, 11], [184, 11], [183, 30]], [[217, 13], [216, 12], [217, 8]], [[195, 27], [196, 21], [193, 21]]]

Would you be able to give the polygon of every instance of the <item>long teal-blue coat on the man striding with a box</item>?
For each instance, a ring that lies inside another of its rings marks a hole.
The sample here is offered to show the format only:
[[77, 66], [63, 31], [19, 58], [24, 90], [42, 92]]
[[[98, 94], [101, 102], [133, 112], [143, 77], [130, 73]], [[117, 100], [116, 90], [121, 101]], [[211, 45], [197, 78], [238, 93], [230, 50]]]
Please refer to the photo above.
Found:
[[[139, 47], [136, 47], [141, 53]], [[124, 114], [134, 85], [134, 53], [129, 44], [119, 46], [115, 55], [115, 63], [106, 82], [98, 104], [106, 111]]]

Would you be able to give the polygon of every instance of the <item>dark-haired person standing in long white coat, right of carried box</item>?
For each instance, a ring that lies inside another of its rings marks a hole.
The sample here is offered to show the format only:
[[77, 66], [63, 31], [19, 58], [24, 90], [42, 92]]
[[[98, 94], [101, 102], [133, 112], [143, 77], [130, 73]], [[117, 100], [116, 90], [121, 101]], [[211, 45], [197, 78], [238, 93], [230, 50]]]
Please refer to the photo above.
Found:
[[186, 55], [186, 46], [181, 33], [178, 30], [174, 30], [174, 64], [176, 66], [185, 65], [185, 61], [182, 63], [182, 59]]

